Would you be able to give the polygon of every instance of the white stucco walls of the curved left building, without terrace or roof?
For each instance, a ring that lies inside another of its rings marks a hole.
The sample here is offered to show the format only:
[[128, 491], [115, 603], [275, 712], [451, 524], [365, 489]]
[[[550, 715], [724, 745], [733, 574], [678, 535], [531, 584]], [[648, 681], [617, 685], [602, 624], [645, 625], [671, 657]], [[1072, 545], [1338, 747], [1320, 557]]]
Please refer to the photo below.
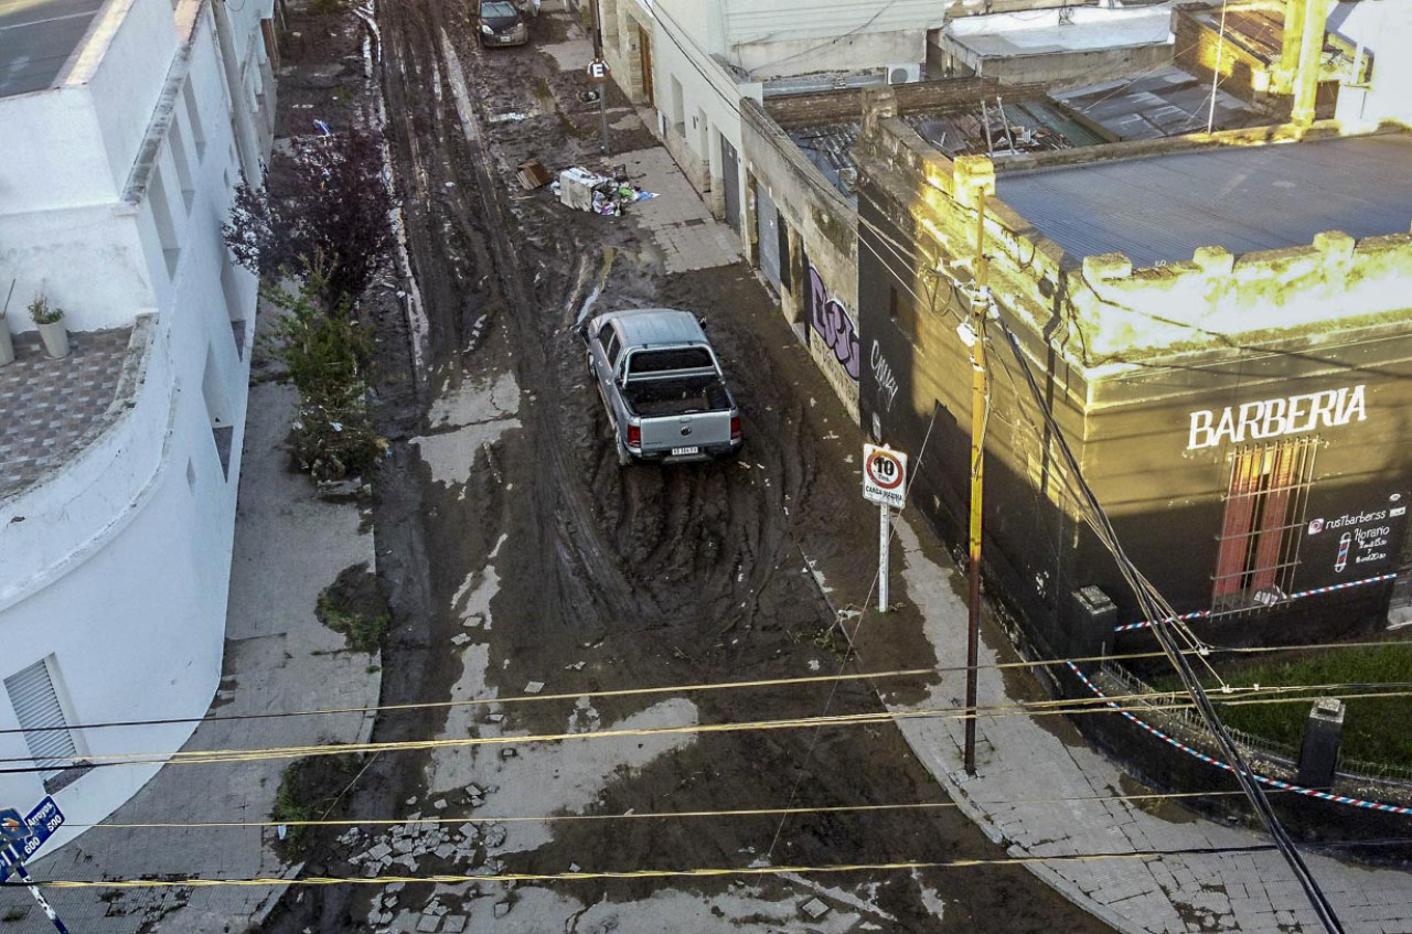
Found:
[[[52, 657], [71, 724], [201, 717], [209, 707], [220, 679], [254, 323], [254, 277], [230, 267], [220, 237], [240, 171], [209, 4], [184, 0], [174, 17], [167, 0], [134, 0], [131, 16], [112, 24], [106, 55], [151, 59], [167, 48], [167, 61], [103, 58], [88, 63], [92, 86], [0, 100], [0, 126], [11, 114], [75, 124], [75, 151], [62, 159], [65, 172], [48, 176], [45, 205], [0, 186], [0, 281], [18, 278], [21, 312], [42, 286], [73, 330], [150, 316], [140, 326], [150, 336], [134, 405], [40, 484], [0, 501], [0, 639], [10, 648], [0, 679]], [[164, 38], [174, 18], [186, 30], [176, 32], [185, 49]], [[258, 32], [258, 20], [237, 21]], [[239, 38], [258, 75], [263, 47]], [[99, 87], [104, 80], [112, 83]], [[152, 86], [158, 95], [147, 100], [136, 90]], [[124, 107], [131, 113], [116, 113]], [[0, 138], [0, 164], [6, 151], [23, 154], [27, 169], [44, 162], [23, 140]], [[95, 165], [99, 183], [75, 168]], [[158, 192], [167, 196], [162, 223]], [[11, 325], [28, 320], [11, 315]], [[227, 468], [213, 418], [233, 429]], [[14, 725], [0, 691], [0, 729]], [[82, 755], [165, 755], [191, 725], [73, 734]], [[21, 735], [0, 734], [0, 758], [27, 755]], [[93, 769], [55, 799], [71, 823], [97, 821], [155, 768]], [[0, 800], [25, 808], [42, 796], [37, 775], [0, 776]], [[61, 831], [47, 851], [78, 832]]]

